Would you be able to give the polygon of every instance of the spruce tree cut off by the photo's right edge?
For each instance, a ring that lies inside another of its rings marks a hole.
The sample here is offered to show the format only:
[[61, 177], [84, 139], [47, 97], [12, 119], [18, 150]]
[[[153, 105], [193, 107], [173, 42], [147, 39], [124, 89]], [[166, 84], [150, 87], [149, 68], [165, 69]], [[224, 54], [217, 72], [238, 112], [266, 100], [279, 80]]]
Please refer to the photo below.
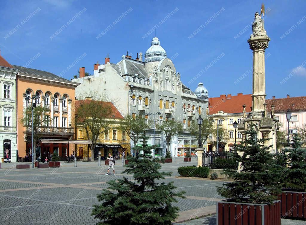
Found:
[[293, 148], [285, 149], [289, 167], [284, 169], [282, 187], [286, 190], [306, 191], [306, 149], [301, 145], [300, 137], [294, 134]]

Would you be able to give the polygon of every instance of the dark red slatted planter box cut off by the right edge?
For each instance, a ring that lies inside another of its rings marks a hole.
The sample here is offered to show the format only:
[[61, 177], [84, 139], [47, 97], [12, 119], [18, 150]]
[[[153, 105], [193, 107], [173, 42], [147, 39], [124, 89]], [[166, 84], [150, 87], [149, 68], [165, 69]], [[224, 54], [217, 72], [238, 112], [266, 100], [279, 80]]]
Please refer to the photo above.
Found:
[[280, 200], [282, 217], [306, 219], [306, 192], [282, 191]]

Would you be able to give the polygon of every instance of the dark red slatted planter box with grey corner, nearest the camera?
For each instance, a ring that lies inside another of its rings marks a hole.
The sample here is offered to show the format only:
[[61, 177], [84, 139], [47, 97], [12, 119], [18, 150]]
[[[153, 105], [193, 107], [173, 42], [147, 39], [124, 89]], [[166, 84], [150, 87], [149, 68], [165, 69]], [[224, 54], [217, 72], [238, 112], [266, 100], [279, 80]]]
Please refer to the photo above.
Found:
[[217, 225], [281, 225], [281, 201], [274, 204], [237, 203], [230, 200], [217, 203]]

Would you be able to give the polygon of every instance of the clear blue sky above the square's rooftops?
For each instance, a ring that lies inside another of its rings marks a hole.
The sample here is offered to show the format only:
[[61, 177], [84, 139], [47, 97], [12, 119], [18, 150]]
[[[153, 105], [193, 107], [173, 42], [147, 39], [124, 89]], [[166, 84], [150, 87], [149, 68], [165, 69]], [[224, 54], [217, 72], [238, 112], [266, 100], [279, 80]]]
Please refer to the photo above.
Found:
[[[70, 79], [79, 67], [92, 74], [93, 64], [103, 63], [107, 53], [112, 63], [118, 63], [126, 51], [136, 58], [137, 52], [150, 47], [157, 28], [161, 46], [186, 86], [195, 90], [202, 82], [210, 97], [247, 94], [252, 93], [252, 51], [247, 40], [261, 3], [2, 0], [1, 55], [11, 64]], [[265, 29], [271, 38], [266, 49], [267, 98], [305, 96], [306, 2], [264, 3]], [[207, 68], [209, 64], [213, 65]]]

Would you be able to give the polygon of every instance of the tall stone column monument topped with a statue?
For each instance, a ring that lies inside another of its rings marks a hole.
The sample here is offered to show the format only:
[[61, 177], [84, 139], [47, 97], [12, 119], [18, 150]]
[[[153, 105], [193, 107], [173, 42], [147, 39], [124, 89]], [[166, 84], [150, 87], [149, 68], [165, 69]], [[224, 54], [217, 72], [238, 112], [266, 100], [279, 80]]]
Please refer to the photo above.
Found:
[[[247, 131], [251, 124], [255, 125], [258, 139], [271, 138], [265, 141], [265, 145], [273, 145], [276, 148], [277, 120], [267, 117], [266, 105], [266, 84], [265, 84], [265, 49], [268, 47], [270, 38], [264, 29], [263, 19], [259, 13], [255, 13], [252, 24], [253, 33], [248, 40], [250, 49], [253, 51], [253, 91], [252, 91], [252, 112], [238, 124], [238, 131], [246, 138]], [[243, 106], [245, 108], [245, 106]]]

